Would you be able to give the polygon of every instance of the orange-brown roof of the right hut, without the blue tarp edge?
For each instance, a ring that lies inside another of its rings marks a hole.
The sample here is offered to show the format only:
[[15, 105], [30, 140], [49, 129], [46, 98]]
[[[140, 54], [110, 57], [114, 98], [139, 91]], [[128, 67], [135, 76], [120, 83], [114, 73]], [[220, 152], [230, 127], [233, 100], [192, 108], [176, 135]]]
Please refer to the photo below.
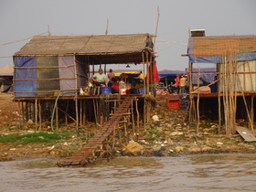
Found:
[[256, 36], [190, 37], [188, 54], [194, 58], [221, 56], [227, 53], [256, 52]]

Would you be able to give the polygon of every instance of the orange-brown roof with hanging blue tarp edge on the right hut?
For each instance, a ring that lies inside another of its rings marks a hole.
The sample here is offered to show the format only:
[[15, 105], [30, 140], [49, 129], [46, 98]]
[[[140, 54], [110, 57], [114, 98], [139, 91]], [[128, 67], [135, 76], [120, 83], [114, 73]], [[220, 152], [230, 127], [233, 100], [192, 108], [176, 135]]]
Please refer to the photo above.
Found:
[[190, 37], [187, 54], [193, 63], [219, 63], [220, 56], [237, 54], [238, 60], [256, 59], [256, 36]]

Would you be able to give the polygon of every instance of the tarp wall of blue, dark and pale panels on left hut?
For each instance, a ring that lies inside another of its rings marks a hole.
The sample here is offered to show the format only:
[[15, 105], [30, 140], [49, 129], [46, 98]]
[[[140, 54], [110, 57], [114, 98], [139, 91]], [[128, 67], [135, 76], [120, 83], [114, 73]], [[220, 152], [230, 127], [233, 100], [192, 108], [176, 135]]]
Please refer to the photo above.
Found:
[[[15, 58], [15, 96], [51, 96], [55, 91], [76, 91], [73, 56], [18, 56]], [[85, 69], [76, 63], [78, 87], [85, 85]], [[70, 94], [69, 94], [70, 95]]]

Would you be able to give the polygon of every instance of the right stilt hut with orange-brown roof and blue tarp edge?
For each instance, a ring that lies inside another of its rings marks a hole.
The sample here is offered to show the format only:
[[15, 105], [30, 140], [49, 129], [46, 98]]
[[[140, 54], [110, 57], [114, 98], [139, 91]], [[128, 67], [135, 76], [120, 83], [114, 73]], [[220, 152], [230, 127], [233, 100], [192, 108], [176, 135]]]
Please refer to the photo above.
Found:
[[[253, 133], [256, 36], [205, 37], [204, 33], [193, 32], [187, 48], [189, 127], [194, 125], [198, 130], [200, 117], [208, 114], [208, 118], [219, 120], [219, 132], [236, 133], [236, 123], [240, 120]], [[193, 68], [197, 63], [205, 67], [216, 64], [216, 68]], [[210, 80], [204, 80], [203, 76], [208, 75]]]

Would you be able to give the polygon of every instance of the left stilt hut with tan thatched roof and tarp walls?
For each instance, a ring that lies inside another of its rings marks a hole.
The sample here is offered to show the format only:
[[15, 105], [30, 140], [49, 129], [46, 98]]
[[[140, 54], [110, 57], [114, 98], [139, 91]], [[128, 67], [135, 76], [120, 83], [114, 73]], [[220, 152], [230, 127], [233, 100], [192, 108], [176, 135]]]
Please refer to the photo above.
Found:
[[[15, 53], [14, 62], [15, 101], [38, 131], [45, 122], [50, 122], [54, 131], [60, 124], [75, 125], [77, 131], [88, 122], [100, 127], [126, 97], [133, 98], [123, 114], [133, 132], [150, 120], [156, 64], [149, 34], [36, 36]], [[127, 89], [126, 94], [101, 94], [99, 87], [88, 87], [91, 73], [99, 68], [106, 73], [110, 64], [142, 65], [143, 92], [128, 94]]]

